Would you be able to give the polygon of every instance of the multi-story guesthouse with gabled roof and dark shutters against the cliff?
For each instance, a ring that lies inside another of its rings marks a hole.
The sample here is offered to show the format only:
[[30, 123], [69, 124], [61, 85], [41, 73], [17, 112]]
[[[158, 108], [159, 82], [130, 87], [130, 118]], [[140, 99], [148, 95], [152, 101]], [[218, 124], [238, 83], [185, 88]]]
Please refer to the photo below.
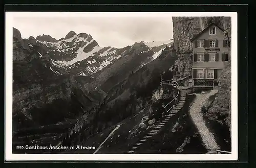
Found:
[[192, 85], [213, 88], [229, 60], [229, 44], [223, 29], [211, 23], [190, 39], [193, 43]]

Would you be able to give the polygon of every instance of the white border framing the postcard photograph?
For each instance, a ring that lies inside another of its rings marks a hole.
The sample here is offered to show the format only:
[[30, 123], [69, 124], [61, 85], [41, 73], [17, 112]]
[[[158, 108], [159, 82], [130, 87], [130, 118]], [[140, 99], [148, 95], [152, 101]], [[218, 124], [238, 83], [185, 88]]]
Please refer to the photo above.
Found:
[[[231, 17], [231, 154], [12, 154], [12, 28], [15, 17]], [[6, 12], [5, 159], [6, 161], [211, 161], [238, 159], [237, 12]]]

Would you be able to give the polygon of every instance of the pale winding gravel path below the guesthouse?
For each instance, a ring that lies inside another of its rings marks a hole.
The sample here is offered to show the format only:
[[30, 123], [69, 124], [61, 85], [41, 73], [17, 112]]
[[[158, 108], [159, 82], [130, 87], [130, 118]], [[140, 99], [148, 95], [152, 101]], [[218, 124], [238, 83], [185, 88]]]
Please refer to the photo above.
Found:
[[[196, 93], [196, 99], [194, 103], [190, 106], [189, 114], [193, 119], [204, 143], [206, 149], [216, 150], [220, 149], [217, 145], [214, 134], [212, 134], [205, 125], [203, 115], [200, 112], [204, 102], [207, 101], [210, 95], [217, 93], [217, 90], [211, 90], [206, 93]], [[210, 152], [210, 151], [209, 151]]]

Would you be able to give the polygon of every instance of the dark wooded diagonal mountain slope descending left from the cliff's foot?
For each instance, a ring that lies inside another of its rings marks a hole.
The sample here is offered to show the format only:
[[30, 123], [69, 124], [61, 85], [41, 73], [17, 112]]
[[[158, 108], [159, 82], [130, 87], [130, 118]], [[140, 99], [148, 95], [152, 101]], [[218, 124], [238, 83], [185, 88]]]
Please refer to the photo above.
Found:
[[89, 115], [82, 115], [74, 125], [69, 138], [72, 144], [76, 145], [79, 141], [86, 140], [88, 136], [93, 136], [92, 134], [108, 129], [122, 119], [136, 114], [147, 101], [151, 100], [152, 92], [159, 86], [161, 73], [166, 71], [164, 77], [172, 78], [172, 71], [169, 71], [169, 68], [176, 60], [173, 48], [165, 47], [154, 61], [134, 73], [131, 71], [127, 78], [119, 76], [122, 80], [113, 82], [115, 85], [108, 91], [103, 104], [94, 108]]

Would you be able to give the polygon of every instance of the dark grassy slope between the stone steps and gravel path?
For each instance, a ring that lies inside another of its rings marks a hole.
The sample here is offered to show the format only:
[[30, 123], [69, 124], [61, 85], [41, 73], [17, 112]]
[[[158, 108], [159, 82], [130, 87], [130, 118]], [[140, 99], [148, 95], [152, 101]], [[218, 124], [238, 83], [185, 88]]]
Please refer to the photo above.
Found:
[[[206, 153], [207, 151], [202, 145], [202, 140], [198, 134], [198, 130], [188, 115], [188, 108], [193, 101], [193, 97], [187, 98], [183, 110], [170, 118], [164, 128], [152, 139], [147, 140], [139, 147], [136, 153], [147, 154], [176, 154], [177, 149], [182, 146], [184, 139], [190, 138], [188, 144], [182, 147], [181, 154]], [[174, 126], [175, 132], [173, 132]]]

